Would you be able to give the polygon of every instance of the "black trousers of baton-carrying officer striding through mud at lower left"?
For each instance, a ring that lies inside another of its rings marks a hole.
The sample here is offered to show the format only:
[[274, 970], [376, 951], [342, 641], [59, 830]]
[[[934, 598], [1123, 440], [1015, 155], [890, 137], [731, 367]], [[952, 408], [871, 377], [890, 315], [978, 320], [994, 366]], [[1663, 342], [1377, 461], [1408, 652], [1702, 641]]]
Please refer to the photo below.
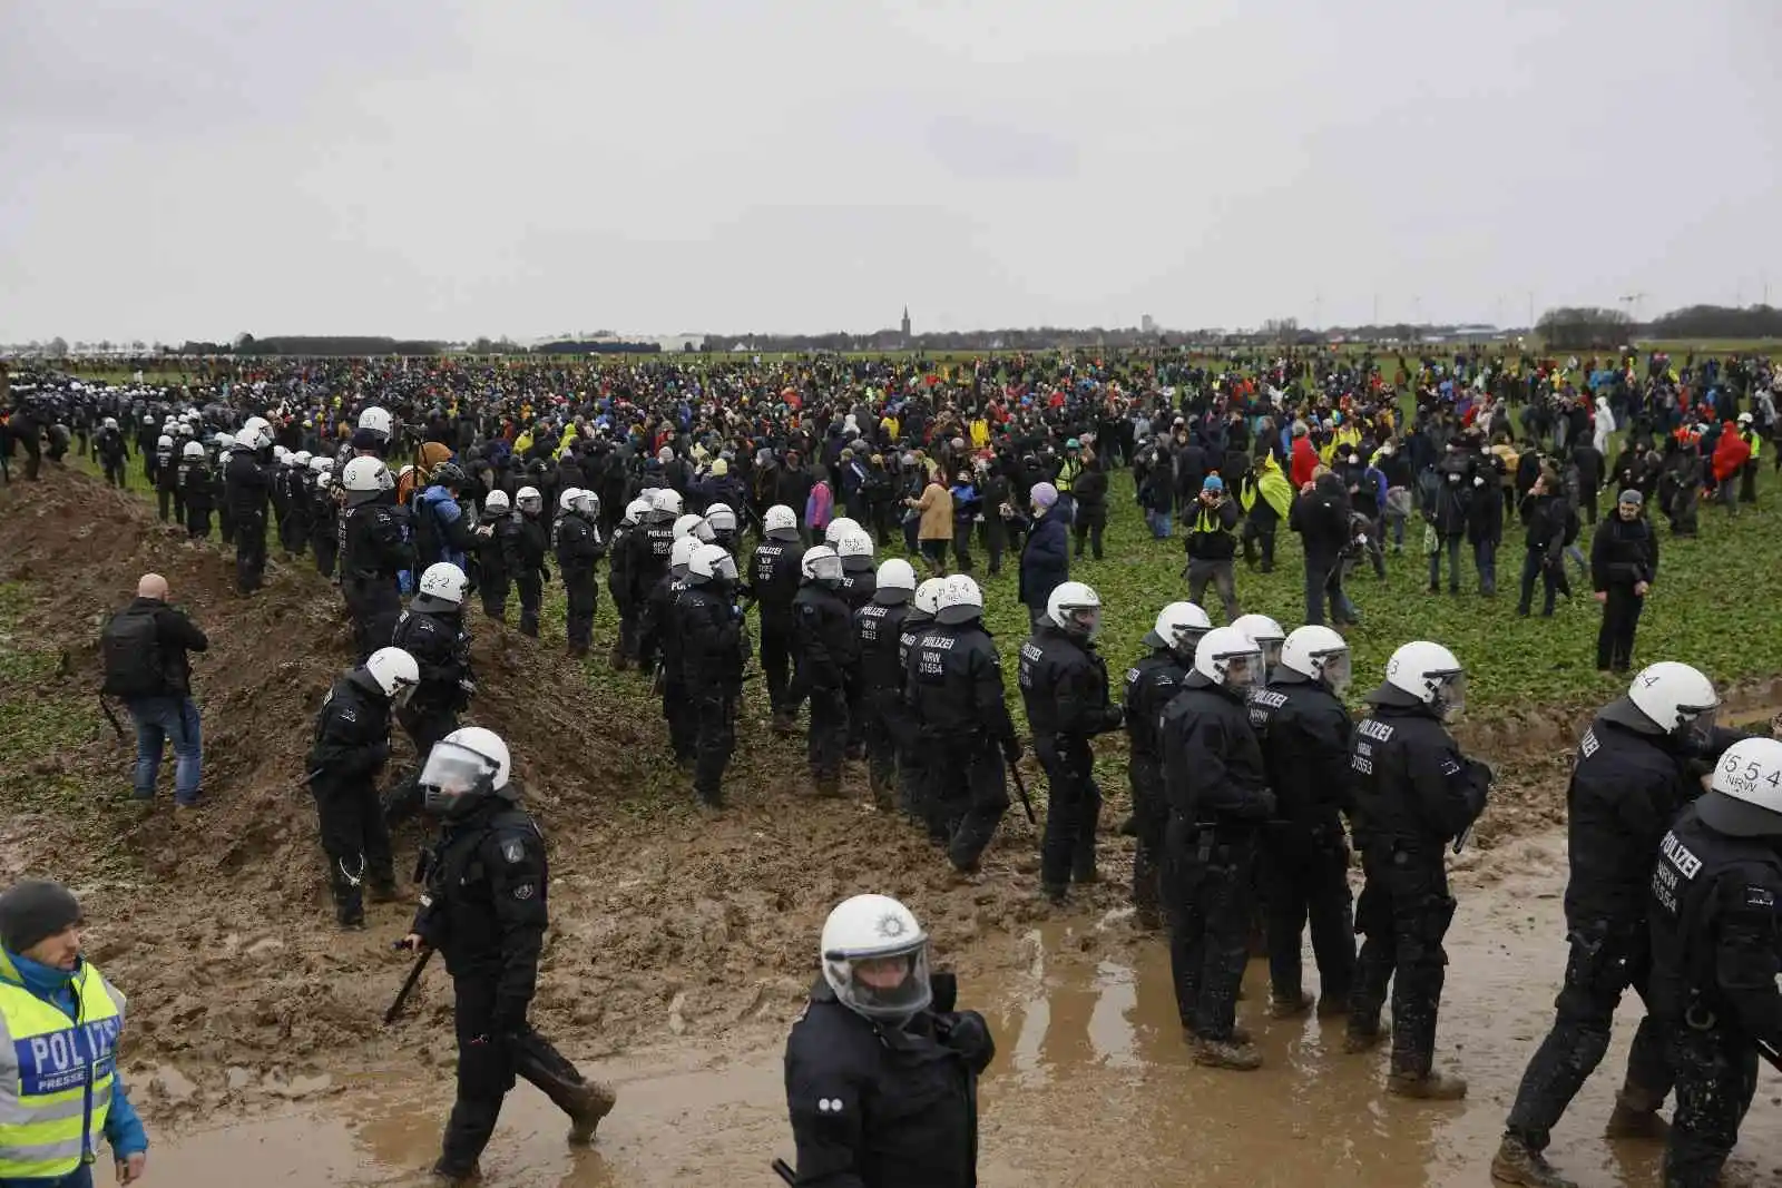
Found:
[[560, 1108], [567, 1094], [584, 1083], [581, 1070], [529, 1024], [506, 1035], [497, 1031], [495, 978], [495, 971], [453, 978], [458, 1099], [446, 1122], [438, 1161], [438, 1170], [451, 1176], [469, 1176], [476, 1167], [515, 1078], [526, 1078]]

